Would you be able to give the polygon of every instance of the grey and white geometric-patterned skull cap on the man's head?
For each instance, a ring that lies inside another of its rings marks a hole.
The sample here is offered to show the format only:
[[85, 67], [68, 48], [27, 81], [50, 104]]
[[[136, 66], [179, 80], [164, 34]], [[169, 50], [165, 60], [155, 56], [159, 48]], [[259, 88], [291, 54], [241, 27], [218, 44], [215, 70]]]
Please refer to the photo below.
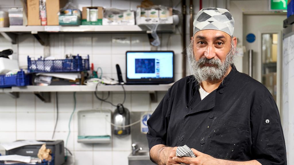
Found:
[[204, 8], [196, 15], [193, 26], [193, 36], [198, 31], [213, 29], [223, 31], [233, 37], [235, 21], [227, 9]]

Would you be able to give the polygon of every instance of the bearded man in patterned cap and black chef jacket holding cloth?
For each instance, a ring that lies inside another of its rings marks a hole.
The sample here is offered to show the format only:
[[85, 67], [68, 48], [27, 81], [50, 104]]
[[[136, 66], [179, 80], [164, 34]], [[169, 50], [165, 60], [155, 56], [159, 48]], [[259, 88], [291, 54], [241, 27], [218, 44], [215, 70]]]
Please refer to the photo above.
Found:
[[273, 97], [233, 64], [237, 39], [229, 11], [202, 9], [193, 26], [188, 48], [193, 75], [173, 84], [147, 122], [151, 160], [168, 165], [286, 164]]

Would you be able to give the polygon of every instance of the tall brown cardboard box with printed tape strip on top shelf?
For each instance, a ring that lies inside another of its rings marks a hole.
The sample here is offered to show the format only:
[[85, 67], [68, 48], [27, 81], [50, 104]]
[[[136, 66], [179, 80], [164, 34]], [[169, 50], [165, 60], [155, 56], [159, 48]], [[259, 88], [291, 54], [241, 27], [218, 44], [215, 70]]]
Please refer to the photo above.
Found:
[[[28, 25], [41, 25], [40, 0], [27, 0]], [[68, 0], [46, 0], [47, 25], [59, 25], [58, 12]]]

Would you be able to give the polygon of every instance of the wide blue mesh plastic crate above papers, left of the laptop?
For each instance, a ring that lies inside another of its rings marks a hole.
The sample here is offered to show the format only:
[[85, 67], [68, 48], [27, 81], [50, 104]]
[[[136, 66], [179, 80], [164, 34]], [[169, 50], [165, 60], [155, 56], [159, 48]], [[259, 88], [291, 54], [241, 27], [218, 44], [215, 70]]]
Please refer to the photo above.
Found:
[[82, 59], [81, 56], [74, 56], [72, 59], [64, 60], [31, 60], [28, 56], [28, 72], [80, 72], [83, 70], [90, 70], [89, 55], [87, 59]]

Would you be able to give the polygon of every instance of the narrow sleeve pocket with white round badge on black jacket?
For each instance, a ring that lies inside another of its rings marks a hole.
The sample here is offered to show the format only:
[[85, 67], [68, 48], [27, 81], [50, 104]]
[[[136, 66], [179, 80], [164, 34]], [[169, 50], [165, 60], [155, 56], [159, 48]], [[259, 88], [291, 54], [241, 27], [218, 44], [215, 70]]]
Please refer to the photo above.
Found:
[[265, 142], [270, 154], [283, 154], [284, 143], [278, 119], [264, 119]]

